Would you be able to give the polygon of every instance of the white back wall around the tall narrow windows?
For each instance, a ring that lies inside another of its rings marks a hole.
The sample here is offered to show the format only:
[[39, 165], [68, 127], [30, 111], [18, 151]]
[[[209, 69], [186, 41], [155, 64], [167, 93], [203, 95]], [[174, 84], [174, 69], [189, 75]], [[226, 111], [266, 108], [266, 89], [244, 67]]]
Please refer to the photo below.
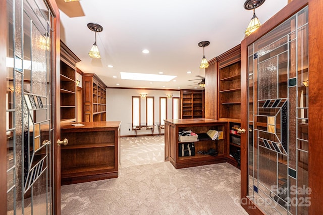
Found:
[[[172, 90], [141, 90], [141, 89], [106, 89], [106, 121], [121, 121], [121, 135], [135, 135], [132, 130], [132, 96], [140, 96], [140, 93], [147, 93], [147, 96], [154, 97], [154, 124], [159, 124], [159, 97], [167, 97], [166, 94], [173, 94], [173, 97], [180, 97], [180, 91]], [[140, 98], [141, 124], [146, 123], [146, 99]], [[173, 118], [173, 99], [167, 98], [167, 117]], [[130, 129], [130, 131], [129, 131]], [[164, 129], [160, 133], [164, 133]], [[142, 128], [137, 135], [151, 134], [151, 130]], [[155, 126], [154, 134], [158, 134], [158, 127]]]

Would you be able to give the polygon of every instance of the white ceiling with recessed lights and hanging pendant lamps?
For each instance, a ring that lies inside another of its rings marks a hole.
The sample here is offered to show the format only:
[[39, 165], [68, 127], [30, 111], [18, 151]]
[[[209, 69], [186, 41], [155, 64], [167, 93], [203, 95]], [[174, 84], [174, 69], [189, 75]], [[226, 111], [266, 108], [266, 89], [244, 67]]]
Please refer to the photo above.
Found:
[[[85, 16], [70, 18], [61, 12], [61, 39], [81, 59], [77, 67], [95, 73], [109, 87], [194, 89], [197, 85], [188, 85], [199, 80], [188, 80], [196, 79], [196, 75], [204, 77], [204, 69], [199, 69], [203, 48], [198, 42], [210, 41], [205, 47], [207, 60], [238, 45], [252, 17], [252, 11], [243, 8], [244, 2], [82, 0], [79, 4]], [[264, 23], [286, 5], [287, 0], [267, 0], [256, 9], [256, 15]], [[103, 27], [96, 41], [101, 59], [88, 56], [94, 43], [94, 32], [87, 28], [90, 22]], [[142, 53], [143, 49], [150, 53]], [[120, 72], [163, 72], [177, 77], [151, 84], [122, 80]]]

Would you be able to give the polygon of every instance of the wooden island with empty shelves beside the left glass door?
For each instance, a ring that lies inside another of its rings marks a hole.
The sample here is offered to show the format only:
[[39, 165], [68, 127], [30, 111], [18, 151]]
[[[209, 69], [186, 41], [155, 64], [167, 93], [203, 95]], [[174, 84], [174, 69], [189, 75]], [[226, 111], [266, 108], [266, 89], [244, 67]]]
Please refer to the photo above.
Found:
[[81, 122], [61, 126], [62, 185], [117, 178], [120, 165], [120, 121]]

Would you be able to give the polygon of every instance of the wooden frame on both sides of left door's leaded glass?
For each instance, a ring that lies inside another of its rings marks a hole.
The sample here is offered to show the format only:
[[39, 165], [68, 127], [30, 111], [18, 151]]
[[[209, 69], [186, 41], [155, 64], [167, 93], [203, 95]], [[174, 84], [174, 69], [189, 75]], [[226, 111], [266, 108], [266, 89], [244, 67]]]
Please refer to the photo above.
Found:
[[[53, 40], [55, 41], [55, 48], [52, 53], [52, 94], [58, 95], [56, 103], [53, 103], [54, 107], [60, 105], [60, 13], [56, 5], [55, 0], [46, 0], [50, 10], [54, 14], [54, 26], [53, 26]], [[0, 1], [0, 100], [6, 100], [7, 87], [7, 68], [6, 68], [6, 57], [7, 57], [7, 39], [8, 39], [8, 17], [7, 17], [7, 2]], [[56, 77], [55, 77], [56, 76]], [[56, 116], [55, 116], [56, 115]], [[54, 126], [56, 126], [55, 137], [52, 140], [56, 140], [60, 137], [60, 108], [54, 108]], [[1, 102], [0, 104], [0, 119], [6, 119], [6, 103]], [[6, 123], [0, 123], [0, 139], [6, 140]], [[54, 143], [52, 143], [54, 144]], [[55, 214], [61, 214], [61, 159], [60, 159], [60, 148], [54, 147], [54, 187], [53, 187], [53, 212]], [[7, 214], [7, 144], [0, 144], [0, 181], [4, 184], [0, 186], [0, 214]]]

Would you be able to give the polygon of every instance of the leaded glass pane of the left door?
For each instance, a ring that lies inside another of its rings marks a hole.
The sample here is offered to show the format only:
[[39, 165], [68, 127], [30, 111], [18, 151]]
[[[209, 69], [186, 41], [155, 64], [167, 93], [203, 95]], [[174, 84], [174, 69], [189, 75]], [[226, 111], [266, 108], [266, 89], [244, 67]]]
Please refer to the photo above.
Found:
[[7, 1], [7, 214], [53, 211], [56, 96], [49, 8], [42, 0]]

